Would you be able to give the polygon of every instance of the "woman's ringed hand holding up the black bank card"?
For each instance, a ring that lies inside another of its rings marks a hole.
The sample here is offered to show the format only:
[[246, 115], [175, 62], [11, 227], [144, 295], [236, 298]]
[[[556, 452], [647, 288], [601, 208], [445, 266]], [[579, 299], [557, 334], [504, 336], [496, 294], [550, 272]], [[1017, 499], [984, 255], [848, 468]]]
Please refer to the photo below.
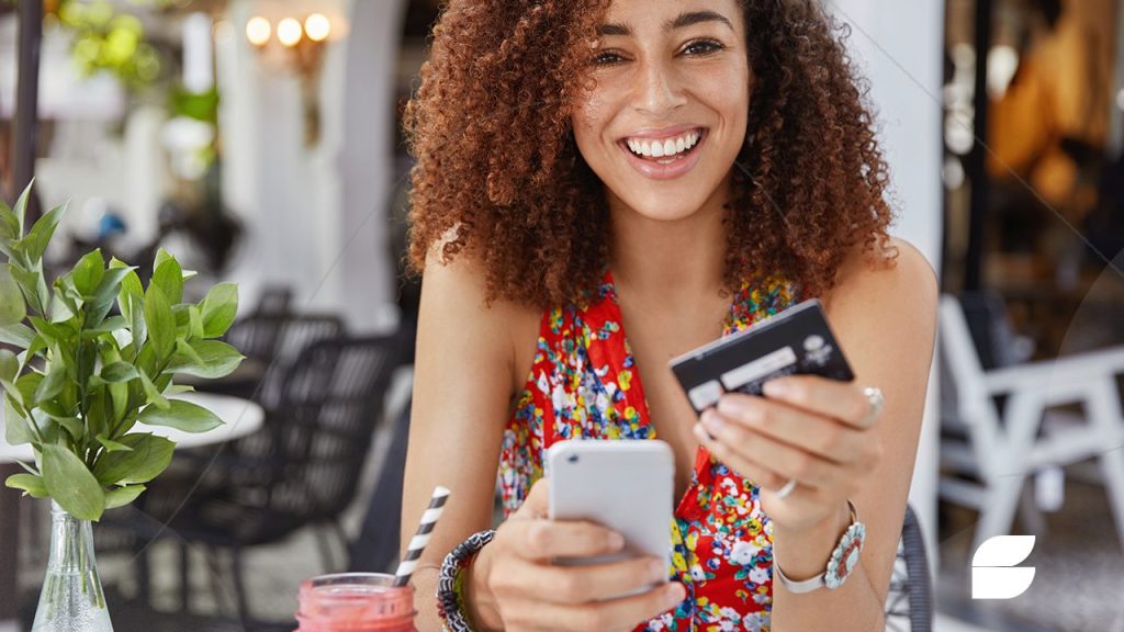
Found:
[[[882, 457], [878, 415], [863, 387], [788, 376], [765, 382], [764, 395], [724, 395], [703, 413], [695, 436], [760, 486], [774, 525], [803, 531], [835, 520]], [[779, 497], [789, 480], [796, 487]]]

